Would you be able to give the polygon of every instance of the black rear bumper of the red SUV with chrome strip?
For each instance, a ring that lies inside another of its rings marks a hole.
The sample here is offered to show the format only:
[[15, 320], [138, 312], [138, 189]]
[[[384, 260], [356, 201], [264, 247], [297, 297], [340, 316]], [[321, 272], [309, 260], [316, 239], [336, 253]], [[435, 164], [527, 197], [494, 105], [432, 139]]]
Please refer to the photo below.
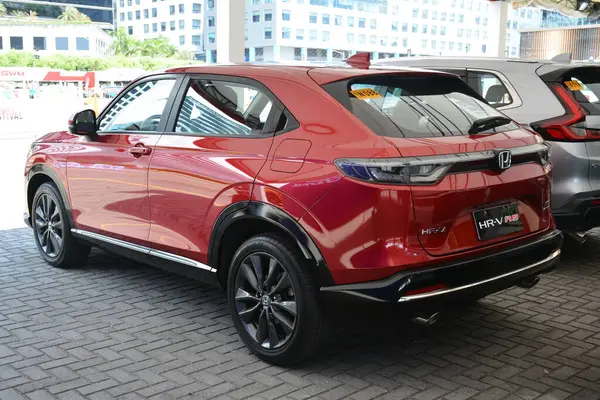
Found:
[[420, 306], [460, 297], [484, 297], [554, 269], [561, 245], [562, 234], [554, 230], [476, 259], [402, 271], [374, 282], [323, 287], [321, 291]]

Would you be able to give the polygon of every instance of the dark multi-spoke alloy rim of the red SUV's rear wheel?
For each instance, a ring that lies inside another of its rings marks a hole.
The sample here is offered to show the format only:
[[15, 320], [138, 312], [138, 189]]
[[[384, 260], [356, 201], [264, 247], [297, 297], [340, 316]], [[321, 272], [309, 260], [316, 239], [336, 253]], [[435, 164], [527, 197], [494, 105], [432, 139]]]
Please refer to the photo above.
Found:
[[241, 263], [235, 280], [235, 308], [250, 336], [267, 349], [290, 339], [298, 311], [296, 291], [285, 267], [267, 253], [253, 253]]

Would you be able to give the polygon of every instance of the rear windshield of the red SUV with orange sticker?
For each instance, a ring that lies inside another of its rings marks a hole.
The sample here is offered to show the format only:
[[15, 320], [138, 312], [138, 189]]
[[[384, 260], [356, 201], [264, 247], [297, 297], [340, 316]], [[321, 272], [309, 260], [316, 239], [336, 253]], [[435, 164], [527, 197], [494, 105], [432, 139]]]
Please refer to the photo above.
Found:
[[[380, 136], [467, 135], [476, 120], [503, 116], [452, 76], [385, 74], [329, 83], [323, 88]], [[480, 133], [516, 128], [509, 123]]]

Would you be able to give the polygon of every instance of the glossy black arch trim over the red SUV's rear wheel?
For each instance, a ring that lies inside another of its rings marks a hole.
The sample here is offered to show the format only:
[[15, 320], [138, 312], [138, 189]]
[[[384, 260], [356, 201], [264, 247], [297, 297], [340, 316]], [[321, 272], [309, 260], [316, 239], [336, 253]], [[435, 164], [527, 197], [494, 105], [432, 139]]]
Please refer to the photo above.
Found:
[[227, 272], [235, 251], [250, 237], [267, 232], [279, 233], [296, 246], [312, 264], [309, 272], [318, 286], [333, 285], [325, 259], [298, 221], [271, 204], [246, 201], [223, 210], [211, 233], [208, 263], [217, 270], [223, 288], [227, 286]]

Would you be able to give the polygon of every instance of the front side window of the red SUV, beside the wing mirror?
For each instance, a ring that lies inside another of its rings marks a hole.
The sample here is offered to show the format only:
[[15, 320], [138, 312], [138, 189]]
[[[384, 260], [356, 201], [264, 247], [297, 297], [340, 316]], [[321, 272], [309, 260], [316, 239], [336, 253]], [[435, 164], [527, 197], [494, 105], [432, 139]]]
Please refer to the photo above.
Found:
[[175, 79], [142, 82], [129, 89], [100, 121], [100, 131], [156, 132]]

